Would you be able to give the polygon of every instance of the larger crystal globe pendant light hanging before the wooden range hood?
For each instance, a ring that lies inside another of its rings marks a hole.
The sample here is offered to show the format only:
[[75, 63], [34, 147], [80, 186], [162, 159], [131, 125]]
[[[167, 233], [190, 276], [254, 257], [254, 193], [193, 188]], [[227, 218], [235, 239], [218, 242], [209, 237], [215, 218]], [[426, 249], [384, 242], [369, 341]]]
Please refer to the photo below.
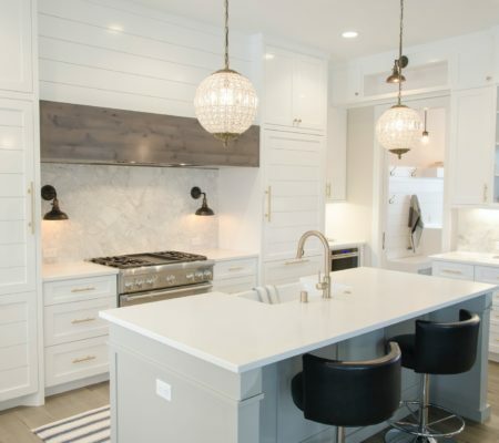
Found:
[[225, 0], [225, 65], [197, 86], [195, 114], [201, 125], [227, 146], [252, 125], [257, 105], [253, 84], [228, 65], [228, 0]]

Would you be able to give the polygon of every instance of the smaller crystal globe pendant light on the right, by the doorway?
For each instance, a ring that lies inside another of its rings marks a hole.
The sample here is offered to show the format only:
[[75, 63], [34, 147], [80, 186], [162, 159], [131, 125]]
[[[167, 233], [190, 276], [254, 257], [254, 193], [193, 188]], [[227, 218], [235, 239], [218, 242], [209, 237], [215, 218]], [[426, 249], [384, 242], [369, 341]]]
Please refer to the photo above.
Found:
[[[398, 60], [403, 60], [404, 0], [400, 0], [400, 40]], [[407, 65], [407, 64], [406, 64]], [[398, 63], [398, 75], [403, 76], [403, 63]], [[401, 158], [421, 136], [419, 113], [401, 103], [403, 81], [398, 81], [397, 104], [385, 111], [376, 124], [376, 137], [379, 144]]]

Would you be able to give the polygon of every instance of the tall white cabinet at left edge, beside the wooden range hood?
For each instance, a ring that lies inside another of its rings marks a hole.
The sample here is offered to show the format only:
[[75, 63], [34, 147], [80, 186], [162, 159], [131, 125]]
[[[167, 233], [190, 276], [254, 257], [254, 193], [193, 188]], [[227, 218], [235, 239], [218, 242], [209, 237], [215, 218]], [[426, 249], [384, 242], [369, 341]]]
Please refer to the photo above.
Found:
[[0, 0], [0, 409], [35, 404], [40, 291], [37, 2]]

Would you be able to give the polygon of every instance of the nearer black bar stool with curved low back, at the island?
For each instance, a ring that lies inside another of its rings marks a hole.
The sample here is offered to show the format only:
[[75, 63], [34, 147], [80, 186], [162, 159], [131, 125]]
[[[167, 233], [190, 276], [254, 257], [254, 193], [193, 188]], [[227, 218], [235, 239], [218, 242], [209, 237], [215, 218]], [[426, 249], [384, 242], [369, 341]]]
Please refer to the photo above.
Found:
[[305, 419], [337, 426], [367, 426], [389, 419], [400, 403], [400, 349], [369, 361], [336, 361], [303, 356], [303, 372], [292, 380], [293, 401]]

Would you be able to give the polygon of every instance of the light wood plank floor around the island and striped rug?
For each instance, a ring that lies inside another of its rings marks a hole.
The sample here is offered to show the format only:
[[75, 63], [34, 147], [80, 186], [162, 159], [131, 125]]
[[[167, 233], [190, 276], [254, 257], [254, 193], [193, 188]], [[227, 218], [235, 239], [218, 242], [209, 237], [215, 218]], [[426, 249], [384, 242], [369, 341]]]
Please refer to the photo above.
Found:
[[[499, 363], [489, 364], [490, 420], [485, 424], [467, 423], [456, 440], [459, 443], [499, 443]], [[109, 403], [109, 385], [100, 383], [47, 399], [40, 408], [16, 408], [0, 412], [0, 443], [40, 443], [31, 429]], [[383, 443], [383, 436], [366, 443]]]

